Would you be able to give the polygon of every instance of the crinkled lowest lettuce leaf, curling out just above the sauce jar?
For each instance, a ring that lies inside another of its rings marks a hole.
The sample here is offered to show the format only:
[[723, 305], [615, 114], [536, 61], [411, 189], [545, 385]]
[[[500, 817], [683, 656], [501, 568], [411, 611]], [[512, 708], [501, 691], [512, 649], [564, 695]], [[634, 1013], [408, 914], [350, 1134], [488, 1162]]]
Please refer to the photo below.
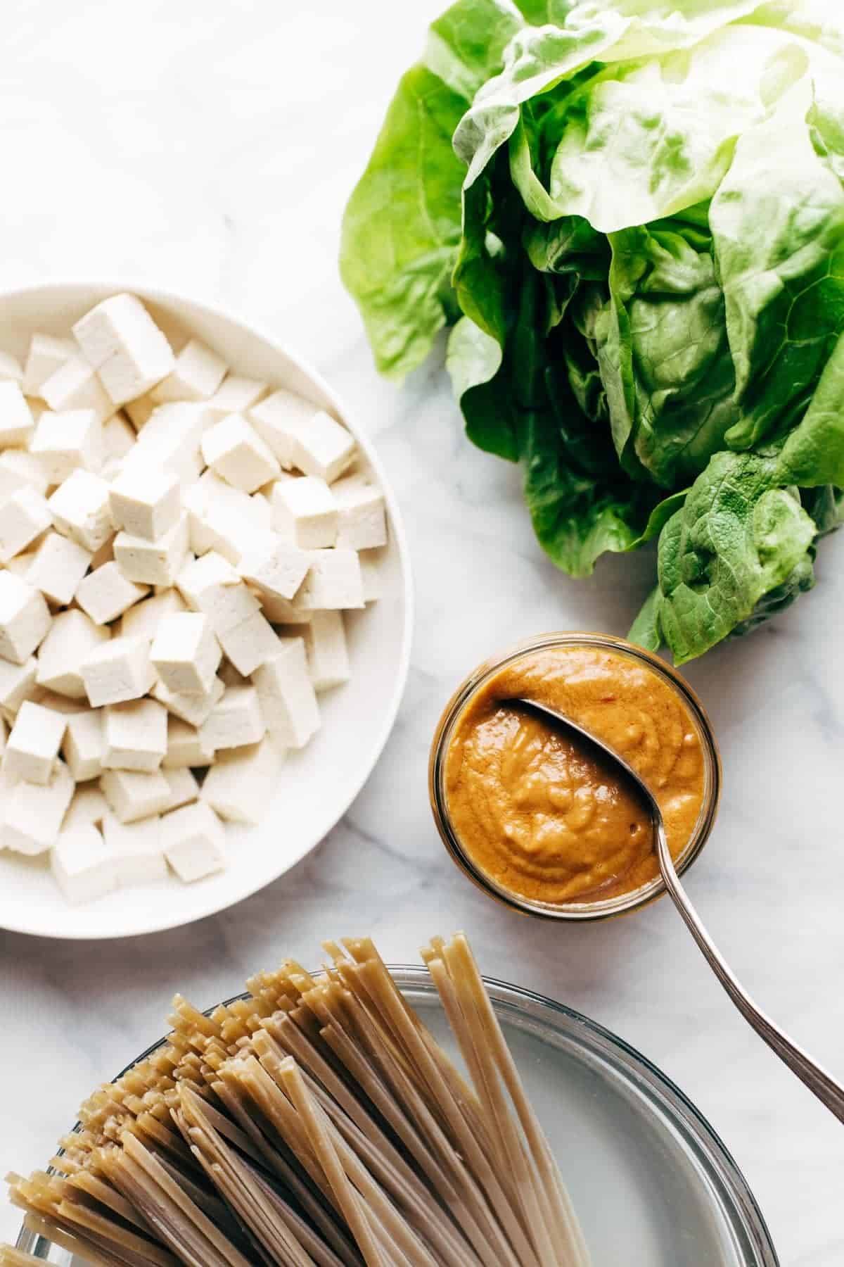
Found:
[[776, 455], [720, 452], [659, 537], [659, 628], [674, 663], [702, 655], [764, 595], [805, 574], [815, 523], [777, 487]]

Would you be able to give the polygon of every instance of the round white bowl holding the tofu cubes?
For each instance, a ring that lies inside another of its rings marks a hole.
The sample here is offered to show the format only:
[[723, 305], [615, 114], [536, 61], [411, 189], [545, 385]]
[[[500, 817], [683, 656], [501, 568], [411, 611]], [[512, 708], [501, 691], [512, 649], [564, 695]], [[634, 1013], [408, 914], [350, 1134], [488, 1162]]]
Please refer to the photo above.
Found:
[[396, 717], [407, 677], [411, 583], [399, 509], [369, 441], [328, 384], [268, 334], [178, 295], [137, 285], [51, 284], [0, 295], [0, 348], [24, 356], [34, 331], [67, 334], [71, 324], [118, 290], [139, 295], [164, 331], [196, 334], [232, 370], [290, 388], [338, 417], [356, 437], [386, 499], [390, 542], [381, 561], [382, 598], [347, 622], [352, 680], [320, 697], [323, 727], [278, 770], [278, 787], [257, 827], [227, 826], [229, 867], [181, 884], [170, 877], [125, 888], [87, 906], [66, 905], [46, 858], [0, 853], [0, 927], [52, 938], [156, 933], [221, 911], [277, 879], [343, 817], [369, 775]]

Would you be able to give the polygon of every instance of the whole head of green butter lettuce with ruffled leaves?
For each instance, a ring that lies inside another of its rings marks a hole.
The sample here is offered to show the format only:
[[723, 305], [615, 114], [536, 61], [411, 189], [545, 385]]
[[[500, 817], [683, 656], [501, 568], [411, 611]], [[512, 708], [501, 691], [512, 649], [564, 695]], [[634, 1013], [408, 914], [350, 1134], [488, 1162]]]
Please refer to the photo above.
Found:
[[844, 18], [458, 0], [349, 201], [378, 366], [447, 328], [469, 438], [569, 575], [658, 538], [678, 663], [814, 584], [844, 488]]

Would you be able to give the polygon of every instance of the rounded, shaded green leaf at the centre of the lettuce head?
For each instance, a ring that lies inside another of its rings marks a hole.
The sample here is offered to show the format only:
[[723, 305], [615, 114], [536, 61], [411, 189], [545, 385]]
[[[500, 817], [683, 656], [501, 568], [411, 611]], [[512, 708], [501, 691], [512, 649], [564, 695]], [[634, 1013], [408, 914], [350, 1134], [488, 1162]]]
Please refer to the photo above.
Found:
[[610, 236], [599, 364], [619, 456], [664, 488], [700, 474], [739, 418], [706, 234], [666, 222]]

